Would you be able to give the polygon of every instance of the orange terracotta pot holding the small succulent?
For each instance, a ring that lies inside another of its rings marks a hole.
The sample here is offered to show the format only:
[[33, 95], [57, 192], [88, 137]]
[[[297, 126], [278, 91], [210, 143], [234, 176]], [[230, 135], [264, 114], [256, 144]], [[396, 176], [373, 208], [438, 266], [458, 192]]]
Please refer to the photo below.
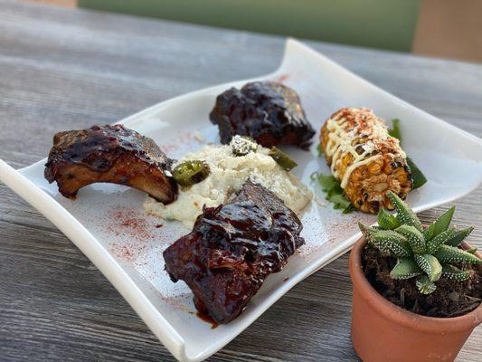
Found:
[[[455, 318], [411, 313], [385, 300], [362, 270], [366, 242], [358, 240], [350, 254], [352, 278], [352, 342], [364, 362], [452, 361], [472, 330], [482, 322], [482, 305]], [[465, 244], [468, 248], [468, 244]], [[482, 258], [477, 253], [479, 258]], [[482, 265], [479, 264], [482, 271]]]

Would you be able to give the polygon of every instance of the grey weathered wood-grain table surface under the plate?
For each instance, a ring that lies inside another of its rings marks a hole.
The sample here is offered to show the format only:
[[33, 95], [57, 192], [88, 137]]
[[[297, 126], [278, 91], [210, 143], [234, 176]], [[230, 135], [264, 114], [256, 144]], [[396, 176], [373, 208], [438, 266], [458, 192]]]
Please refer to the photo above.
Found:
[[[52, 135], [274, 70], [284, 39], [0, 0], [0, 158], [25, 167]], [[422, 110], [482, 136], [482, 66], [307, 42]], [[448, 149], [447, 152], [450, 152]], [[482, 187], [457, 201], [482, 246]], [[421, 213], [430, 222], [443, 205]], [[211, 361], [356, 360], [346, 255], [302, 281]], [[460, 352], [482, 360], [482, 328]], [[168, 361], [128, 303], [41, 214], [0, 185], [0, 360]]]

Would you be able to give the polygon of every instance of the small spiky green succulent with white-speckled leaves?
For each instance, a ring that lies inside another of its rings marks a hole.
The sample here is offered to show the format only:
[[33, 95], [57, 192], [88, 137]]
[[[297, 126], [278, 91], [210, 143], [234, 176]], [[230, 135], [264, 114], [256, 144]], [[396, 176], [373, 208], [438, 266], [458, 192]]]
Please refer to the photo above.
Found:
[[378, 213], [378, 226], [359, 226], [369, 244], [398, 259], [390, 271], [392, 279], [416, 277], [415, 284], [423, 294], [435, 291], [435, 281], [440, 278], [468, 280], [473, 271], [460, 269], [453, 263], [475, 264], [482, 260], [474, 255], [477, 248], [468, 251], [458, 248], [474, 228], [456, 230], [449, 227], [455, 207], [428, 227], [423, 227], [417, 215], [399, 196], [392, 191], [387, 196], [397, 214], [390, 214], [382, 208]]

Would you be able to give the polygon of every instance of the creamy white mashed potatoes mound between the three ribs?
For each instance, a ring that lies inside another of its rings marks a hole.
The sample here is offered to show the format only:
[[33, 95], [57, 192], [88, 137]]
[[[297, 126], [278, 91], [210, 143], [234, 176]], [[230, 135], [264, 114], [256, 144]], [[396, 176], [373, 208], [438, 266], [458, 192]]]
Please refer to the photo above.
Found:
[[[233, 138], [232, 142], [236, 140]], [[187, 160], [205, 160], [211, 169], [210, 175], [194, 186], [180, 189], [173, 204], [163, 205], [148, 197], [144, 204], [146, 212], [168, 220], [179, 220], [192, 228], [196, 217], [203, 213], [203, 205], [225, 204], [250, 177], [278, 195], [285, 205], [298, 214], [313, 195], [296, 176], [279, 167], [268, 152], [268, 148], [259, 146], [245, 156], [234, 156], [231, 145], [210, 145], [189, 153], [178, 164]]]

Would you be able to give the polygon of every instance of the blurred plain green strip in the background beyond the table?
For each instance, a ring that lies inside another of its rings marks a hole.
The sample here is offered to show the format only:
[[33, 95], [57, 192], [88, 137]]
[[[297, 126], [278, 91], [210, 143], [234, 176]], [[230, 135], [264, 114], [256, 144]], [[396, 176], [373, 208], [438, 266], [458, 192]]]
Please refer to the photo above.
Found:
[[80, 7], [410, 52], [421, 0], [79, 0]]

